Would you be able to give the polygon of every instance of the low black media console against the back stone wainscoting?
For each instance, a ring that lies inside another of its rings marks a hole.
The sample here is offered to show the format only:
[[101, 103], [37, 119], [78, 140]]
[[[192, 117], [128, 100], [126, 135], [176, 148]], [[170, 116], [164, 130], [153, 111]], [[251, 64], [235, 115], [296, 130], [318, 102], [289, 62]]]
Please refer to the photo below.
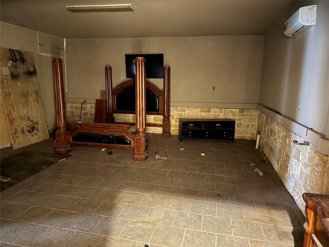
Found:
[[234, 142], [235, 121], [221, 119], [180, 118], [178, 139], [182, 138], [212, 138], [230, 139]]

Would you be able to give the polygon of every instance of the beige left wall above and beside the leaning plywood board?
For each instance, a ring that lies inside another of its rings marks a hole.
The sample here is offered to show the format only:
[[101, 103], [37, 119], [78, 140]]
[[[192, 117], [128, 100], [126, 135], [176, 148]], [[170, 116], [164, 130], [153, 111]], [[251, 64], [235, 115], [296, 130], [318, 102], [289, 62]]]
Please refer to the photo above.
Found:
[[1, 47], [33, 52], [48, 130], [56, 128], [52, 56], [64, 55], [64, 39], [0, 22]]

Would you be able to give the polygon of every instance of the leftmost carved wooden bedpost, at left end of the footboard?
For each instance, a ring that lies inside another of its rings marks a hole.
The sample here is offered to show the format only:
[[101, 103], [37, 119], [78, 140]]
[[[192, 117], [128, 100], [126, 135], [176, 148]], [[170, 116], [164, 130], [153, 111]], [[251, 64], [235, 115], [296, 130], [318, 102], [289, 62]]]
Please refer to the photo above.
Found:
[[67, 136], [67, 120], [66, 120], [66, 106], [65, 106], [65, 92], [64, 92], [64, 80], [63, 80], [63, 68], [62, 60], [60, 58], [52, 59], [53, 81], [55, 87], [55, 105], [56, 105], [56, 146], [55, 153], [68, 153], [72, 151], [70, 145], [68, 145]]

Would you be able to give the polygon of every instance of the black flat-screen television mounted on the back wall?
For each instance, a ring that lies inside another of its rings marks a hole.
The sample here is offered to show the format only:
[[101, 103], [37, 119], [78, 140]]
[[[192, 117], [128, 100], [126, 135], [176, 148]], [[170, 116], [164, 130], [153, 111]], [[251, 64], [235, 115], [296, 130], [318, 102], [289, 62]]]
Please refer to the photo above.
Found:
[[126, 54], [125, 74], [126, 78], [135, 78], [135, 59], [145, 59], [145, 78], [163, 78], [163, 54]]

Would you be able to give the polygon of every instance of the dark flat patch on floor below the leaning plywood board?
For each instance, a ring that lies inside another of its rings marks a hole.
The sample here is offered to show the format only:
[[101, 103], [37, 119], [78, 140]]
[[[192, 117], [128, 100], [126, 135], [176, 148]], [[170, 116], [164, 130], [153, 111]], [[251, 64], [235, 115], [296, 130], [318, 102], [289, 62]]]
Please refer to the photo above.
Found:
[[46, 169], [48, 166], [71, 156], [70, 154], [21, 152], [3, 158], [1, 163], [1, 175], [11, 178], [8, 182], [1, 181], [1, 191], [31, 177]]

